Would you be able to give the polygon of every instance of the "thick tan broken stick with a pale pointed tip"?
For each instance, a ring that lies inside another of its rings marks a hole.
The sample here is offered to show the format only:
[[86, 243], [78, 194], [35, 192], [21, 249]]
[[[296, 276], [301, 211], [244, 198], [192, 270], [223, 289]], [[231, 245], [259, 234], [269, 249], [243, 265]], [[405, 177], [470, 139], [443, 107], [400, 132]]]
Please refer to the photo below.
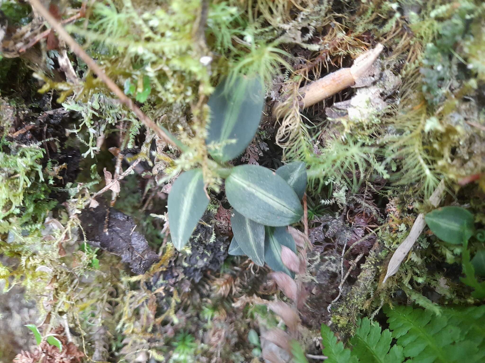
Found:
[[[339, 69], [336, 72], [330, 73], [323, 78], [300, 88], [298, 92], [303, 97], [301, 101], [302, 108], [315, 105], [325, 98], [345, 90], [347, 87], [353, 86], [357, 79], [364, 76], [369, 71], [383, 49], [384, 46], [379, 43], [375, 48], [368, 50], [357, 57], [352, 67]], [[273, 107], [273, 114], [279, 113], [278, 116], [283, 116], [286, 112], [285, 110], [277, 110], [279, 105], [280, 104], [276, 104]]]

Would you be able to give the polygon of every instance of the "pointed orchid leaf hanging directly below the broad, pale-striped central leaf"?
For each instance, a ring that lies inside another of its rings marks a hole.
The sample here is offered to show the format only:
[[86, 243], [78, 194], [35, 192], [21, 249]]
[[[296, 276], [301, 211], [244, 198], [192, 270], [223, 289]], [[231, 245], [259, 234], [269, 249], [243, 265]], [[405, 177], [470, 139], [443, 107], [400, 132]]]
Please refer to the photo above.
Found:
[[231, 227], [242, 252], [258, 266], [264, 266], [264, 226], [232, 211]]

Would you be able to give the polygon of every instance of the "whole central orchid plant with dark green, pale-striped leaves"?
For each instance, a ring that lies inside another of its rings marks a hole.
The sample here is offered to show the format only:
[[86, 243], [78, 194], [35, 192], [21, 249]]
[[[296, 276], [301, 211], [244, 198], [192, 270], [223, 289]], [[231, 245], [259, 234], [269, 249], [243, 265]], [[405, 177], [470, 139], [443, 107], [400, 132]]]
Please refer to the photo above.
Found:
[[[307, 187], [302, 162], [293, 162], [275, 172], [257, 165], [231, 166], [258, 130], [264, 91], [258, 78], [244, 76], [222, 81], [209, 100], [211, 121], [206, 144], [216, 171], [226, 180], [226, 197], [231, 204], [234, 238], [229, 254], [247, 255], [263, 266], [290, 275], [281, 261], [281, 248], [296, 253], [295, 241], [286, 226], [303, 216], [301, 198]], [[189, 241], [209, 204], [202, 169], [185, 171], [173, 183], [168, 196], [170, 234], [180, 250]]]

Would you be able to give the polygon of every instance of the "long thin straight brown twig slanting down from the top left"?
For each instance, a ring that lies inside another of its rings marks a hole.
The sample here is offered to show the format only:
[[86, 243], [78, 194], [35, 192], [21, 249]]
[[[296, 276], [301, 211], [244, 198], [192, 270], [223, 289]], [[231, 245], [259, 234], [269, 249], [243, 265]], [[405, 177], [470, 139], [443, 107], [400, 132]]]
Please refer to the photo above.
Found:
[[155, 133], [168, 144], [178, 148], [177, 145], [163, 132], [163, 130], [153, 122], [143, 111], [134, 104], [134, 102], [120, 90], [113, 80], [104, 73], [104, 71], [97, 65], [97, 63], [81, 48], [81, 46], [65, 31], [64, 27], [56, 20], [49, 11], [40, 3], [39, 0], [29, 0], [32, 8], [34, 8], [40, 15], [42, 15], [50, 24], [52, 29], [57, 31], [60, 38], [64, 39], [71, 50], [81, 58], [89, 68], [101, 79], [106, 86], [119, 98], [119, 100], [127, 106], [133, 113], [142, 121], [146, 127], [155, 131]]

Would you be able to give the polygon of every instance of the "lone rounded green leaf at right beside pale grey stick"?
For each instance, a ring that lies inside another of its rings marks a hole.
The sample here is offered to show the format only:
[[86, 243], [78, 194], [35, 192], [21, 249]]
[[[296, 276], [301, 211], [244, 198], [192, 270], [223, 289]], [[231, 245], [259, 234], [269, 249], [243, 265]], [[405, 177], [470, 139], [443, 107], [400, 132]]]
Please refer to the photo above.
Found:
[[424, 220], [436, 237], [447, 243], [461, 244], [475, 233], [473, 214], [465, 208], [438, 208], [426, 214]]

